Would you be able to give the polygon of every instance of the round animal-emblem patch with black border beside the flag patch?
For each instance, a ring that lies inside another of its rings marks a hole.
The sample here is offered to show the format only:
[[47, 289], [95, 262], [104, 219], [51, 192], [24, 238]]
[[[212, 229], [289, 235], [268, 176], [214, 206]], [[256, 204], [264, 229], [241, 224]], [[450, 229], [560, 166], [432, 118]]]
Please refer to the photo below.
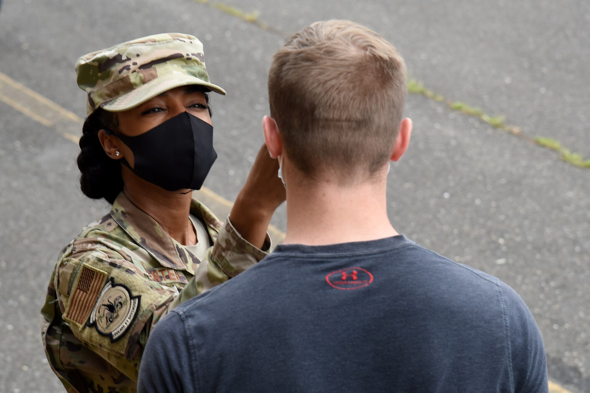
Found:
[[117, 341], [131, 327], [139, 311], [140, 300], [141, 295], [133, 296], [126, 285], [115, 284], [111, 277], [100, 291], [86, 326], [94, 326], [111, 342]]

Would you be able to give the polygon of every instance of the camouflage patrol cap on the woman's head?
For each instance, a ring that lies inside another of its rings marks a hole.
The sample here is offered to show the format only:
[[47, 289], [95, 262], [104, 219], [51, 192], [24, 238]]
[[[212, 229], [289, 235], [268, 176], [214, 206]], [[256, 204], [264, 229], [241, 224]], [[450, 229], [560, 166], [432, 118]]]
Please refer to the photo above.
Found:
[[192, 35], [150, 35], [82, 56], [76, 62], [78, 86], [87, 92], [88, 115], [103, 108], [122, 112], [185, 85], [201, 85], [225, 95], [209, 82], [203, 44]]

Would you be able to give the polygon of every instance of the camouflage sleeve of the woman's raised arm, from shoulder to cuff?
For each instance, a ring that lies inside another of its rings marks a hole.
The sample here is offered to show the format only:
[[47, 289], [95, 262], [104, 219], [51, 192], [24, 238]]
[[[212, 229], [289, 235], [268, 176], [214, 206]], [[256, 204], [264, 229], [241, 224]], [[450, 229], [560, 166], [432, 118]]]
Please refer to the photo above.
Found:
[[[270, 241], [264, 248], [270, 248]], [[49, 352], [60, 353], [69, 361], [52, 363], [56, 374], [67, 375], [67, 369], [83, 368], [88, 361], [78, 353], [70, 354], [70, 347], [64, 347], [57, 333], [55, 339], [50, 337], [59, 330], [51, 327], [65, 322], [86, 348], [137, 381], [143, 348], [162, 317], [182, 302], [250, 268], [267, 252], [242, 238], [228, 218], [194, 277], [180, 292], [150, 280], [124, 255], [126, 252], [107, 239], [81, 238], [68, 246], [57, 262], [51, 287], [58, 310], [53, 317], [44, 318], [44, 341], [48, 343], [46, 351], [51, 347]]]

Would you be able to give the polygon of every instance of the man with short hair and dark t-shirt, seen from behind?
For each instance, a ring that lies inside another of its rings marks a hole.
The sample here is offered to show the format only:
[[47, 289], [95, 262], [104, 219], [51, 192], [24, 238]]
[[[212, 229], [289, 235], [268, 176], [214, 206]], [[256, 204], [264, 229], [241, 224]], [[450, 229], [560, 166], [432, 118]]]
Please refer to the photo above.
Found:
[[349, 21], [274, 55], [263, 129], [286, 238], [159, 322], [140, 392], [548, 392], [519, 295], [389, 222], [389, 161], [412, 129], [405, 75], [391, 44]]

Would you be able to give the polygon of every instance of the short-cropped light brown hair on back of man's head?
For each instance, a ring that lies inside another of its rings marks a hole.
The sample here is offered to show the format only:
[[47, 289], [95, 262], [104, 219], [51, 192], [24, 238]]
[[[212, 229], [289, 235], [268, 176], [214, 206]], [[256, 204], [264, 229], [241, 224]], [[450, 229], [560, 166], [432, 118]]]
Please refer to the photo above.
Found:
[[376, 32], [350, 21], [316, 22], [274, 55], [271, 116], [296, 168], [347, 185], [391, 158], [404, 109], [406, 66]]

